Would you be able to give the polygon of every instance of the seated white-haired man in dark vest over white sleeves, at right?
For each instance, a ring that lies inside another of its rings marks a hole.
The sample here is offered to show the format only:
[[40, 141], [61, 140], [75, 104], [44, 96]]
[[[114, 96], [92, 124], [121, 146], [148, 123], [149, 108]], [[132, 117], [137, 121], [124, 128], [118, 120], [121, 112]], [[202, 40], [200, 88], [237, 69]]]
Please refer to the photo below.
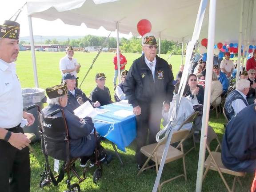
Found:
[[224, 105], [228, 120], [231, 120], [238, 112], [248, 106], [246, 95], [250, 87], [250, 81], [240, 79], [237, 81], [236, 90], [228, 94]]

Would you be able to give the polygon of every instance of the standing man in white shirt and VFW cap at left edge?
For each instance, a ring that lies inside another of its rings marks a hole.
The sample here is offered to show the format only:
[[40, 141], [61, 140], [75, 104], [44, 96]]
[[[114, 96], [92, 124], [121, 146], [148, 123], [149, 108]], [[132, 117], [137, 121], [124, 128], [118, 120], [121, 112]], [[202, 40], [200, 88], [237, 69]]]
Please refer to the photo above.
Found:
[[23, 111], [22, 92], [16, 75], [20, 24], [6, 20], [0, 25], [0, 192], [29, 192], [31, 142], [20, 127], [22, 117], [32, 125], [35, 118]]

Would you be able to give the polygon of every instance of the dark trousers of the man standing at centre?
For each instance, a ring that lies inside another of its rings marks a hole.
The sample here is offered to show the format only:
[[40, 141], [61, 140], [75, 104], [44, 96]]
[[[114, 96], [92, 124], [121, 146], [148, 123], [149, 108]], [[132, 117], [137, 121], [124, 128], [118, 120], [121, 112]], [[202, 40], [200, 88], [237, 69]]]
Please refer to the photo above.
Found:
[[136, 161], [143, 165], [146, 157], [140, 152], [140, 148], [148, 144], [156, 143], [156, 134], [160, 131], [163, 102], [139, 103], [141, 114], [136, 116]]

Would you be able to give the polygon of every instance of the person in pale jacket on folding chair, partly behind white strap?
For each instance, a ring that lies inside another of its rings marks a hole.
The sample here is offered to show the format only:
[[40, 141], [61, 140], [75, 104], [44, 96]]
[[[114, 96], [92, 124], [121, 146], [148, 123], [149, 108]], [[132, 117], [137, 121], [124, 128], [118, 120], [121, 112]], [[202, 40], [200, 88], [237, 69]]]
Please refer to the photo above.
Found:
[[[175, 84], [175, 89], [174, 89], [175, 95], [173, 96], [172, 102], [170, 103], [169, 112], [163, 111], [162, 113], [164, 126], [166, 126], [170, 120], [173, 120], [172, 110], [176, 103], [176, 98], [177, 98], [176, 94], [178, 93], [179, 86], [180, 86], [180, 82]], [[193, 112], [195, 112], [193, 109], [192, 103], [186, 97], [184, 97], [188, 92], [188, 89], [189, 89], [189, 86], [186, 85], [184, 88], [184, 94], [180, 100], [178, 113], [176, 114], [176, 127], [174, 128], [175, 131], [180, 127], [180, 125], [184, 122], [184, 120], [188, 118], [188, 116], [190, 116]], [[185, 124], [180, 130], [190, 130], [191, 128], [192, 128], [192, 123], [188, 123], [188, 124]]]

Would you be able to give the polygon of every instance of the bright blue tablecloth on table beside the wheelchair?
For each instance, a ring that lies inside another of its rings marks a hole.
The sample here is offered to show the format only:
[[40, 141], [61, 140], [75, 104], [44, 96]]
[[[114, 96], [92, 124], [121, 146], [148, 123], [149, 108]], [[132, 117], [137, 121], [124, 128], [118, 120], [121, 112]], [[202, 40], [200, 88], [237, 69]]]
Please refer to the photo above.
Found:
[[135, 115], [128, 117], [115, 116], [114, 112], [119, 110], [132, 111], [132, 106], [119, 104], [108, 104], [100, 107], [108, 110], [103, 114], [92, 118], [97, 132], [117, 145], [117, 148], [125, 152], [125, 147], [132, 143], [136, 138], [136, 119]]

